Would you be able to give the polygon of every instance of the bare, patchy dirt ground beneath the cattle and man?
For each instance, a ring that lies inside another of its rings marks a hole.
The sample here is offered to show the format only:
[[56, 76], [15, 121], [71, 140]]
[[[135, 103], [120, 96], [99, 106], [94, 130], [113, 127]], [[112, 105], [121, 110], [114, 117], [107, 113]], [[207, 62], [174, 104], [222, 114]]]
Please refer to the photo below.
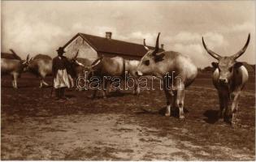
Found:
[[[50, 83], [51, 78], [46, 79]], [[165, 117], [162, 91], [66, 92], [56, 102], [51, 88], [24, 74], [18, 90], [1, 83], [2, 160], [255, 160], [255, 78], [241, 94], [238, 124], [217, 120], [219, 101], [210, 74], [186, 90], [185, 119]]]

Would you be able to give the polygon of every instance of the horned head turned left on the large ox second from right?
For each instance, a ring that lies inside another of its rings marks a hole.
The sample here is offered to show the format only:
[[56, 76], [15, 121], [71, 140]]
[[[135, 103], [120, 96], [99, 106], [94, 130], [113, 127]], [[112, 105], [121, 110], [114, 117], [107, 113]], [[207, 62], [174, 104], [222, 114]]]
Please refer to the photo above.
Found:
[[155, 68], [157, 67], [157, 63], [163, 61], [164, 52], [159, 51], [159, 36], [160, 32], [158, 32], [158, 37], [155, 43], [154, 49], [149, 49], [145, 45], [144, 39], [144, 47], [148, 51], [145, 53], [144, 57], [141, 58], [141, 62], [137, 66], [137, 75], [154, 75]]

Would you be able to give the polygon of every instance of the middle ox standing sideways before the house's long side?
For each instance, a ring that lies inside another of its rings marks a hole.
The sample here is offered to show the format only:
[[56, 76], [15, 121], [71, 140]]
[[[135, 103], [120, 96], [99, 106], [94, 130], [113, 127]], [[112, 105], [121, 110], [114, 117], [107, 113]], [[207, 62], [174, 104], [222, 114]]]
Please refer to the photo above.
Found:
[[[139, 61], [137, 60], [125, 60], [121, 57], [115, 58], [106, 58], [101, 57], [96, 59], [92, 65], [90, 66], [90, 70], [94, 77], [100, 79], [102, 88], [102, 95], [106, 98], [106, 87], [107, 83], [113, 81], [114, 77], [118, 77], [119, 79], [125, 77], [125, 72], [128, 77], [132, 77], [134, 81], [133, 94], [139, 95], [140, 87], [137, 80], [137, 66]], [[116, 79], [116, 78], [115, 78]], [[126, 80], [128, 81], [128, 79]], [[93, 91], [93, 98], [96, 96], [97, 90]]]

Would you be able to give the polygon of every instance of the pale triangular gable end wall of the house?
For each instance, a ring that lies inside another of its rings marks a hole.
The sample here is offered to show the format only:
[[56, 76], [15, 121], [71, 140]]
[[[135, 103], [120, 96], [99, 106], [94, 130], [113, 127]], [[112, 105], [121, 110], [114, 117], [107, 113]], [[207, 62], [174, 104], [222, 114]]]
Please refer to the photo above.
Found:
[[79, 49], [77, 58], [88, 58], [89, 60], [94, 60], [98, 58], [98, 53], [81, 37], [77, 36], [76, 39], [66, 46], [65, 56], [72, 58], [77, 50]]

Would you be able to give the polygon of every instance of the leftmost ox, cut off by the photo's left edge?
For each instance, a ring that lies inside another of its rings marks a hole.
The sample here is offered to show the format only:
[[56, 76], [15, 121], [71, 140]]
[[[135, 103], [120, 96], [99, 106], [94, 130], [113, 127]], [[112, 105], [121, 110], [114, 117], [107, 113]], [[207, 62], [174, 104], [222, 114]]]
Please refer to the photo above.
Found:
[[17, 79], [20, 78], [24, 68], [28, 66], [29, 54], [26, 60], [21, 60], [21, 58], [15, 53], [14, 50], [10, 49], [12, 56], [7, 53], [1, 53], [1, 75], [11, 75], [12, 87], [18, 88]]

